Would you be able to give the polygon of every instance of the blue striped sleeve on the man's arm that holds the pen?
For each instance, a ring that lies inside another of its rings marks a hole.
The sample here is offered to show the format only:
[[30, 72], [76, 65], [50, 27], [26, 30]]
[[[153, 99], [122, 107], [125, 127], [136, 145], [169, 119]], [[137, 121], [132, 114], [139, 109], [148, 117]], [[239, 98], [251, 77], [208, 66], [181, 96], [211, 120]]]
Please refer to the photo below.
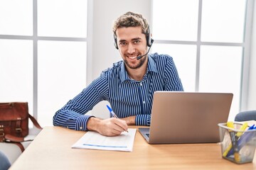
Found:
[[91, 111], [97, 103], [105, 99], [107, 89], [107, 80], [102, 74], [55, 113], [53, 125], [73, 130], [87, 130], [87, 121], [92, 115], [85, 115], [85, 113]]

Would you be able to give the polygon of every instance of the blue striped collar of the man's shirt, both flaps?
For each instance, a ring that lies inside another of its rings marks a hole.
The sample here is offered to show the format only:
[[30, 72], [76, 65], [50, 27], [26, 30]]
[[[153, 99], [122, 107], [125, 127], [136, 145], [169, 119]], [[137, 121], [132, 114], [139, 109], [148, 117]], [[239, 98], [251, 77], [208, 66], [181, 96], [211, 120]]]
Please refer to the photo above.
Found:
[[[153, 60], [151, 55], [148, 55], [148, 67], [147, 67], [146, 74], [148, 72], [156, 72], [156, 73], [158, 72], [156, 67], [156, 62]], [[122, 62], [122, 66], [121, 66], [120, 79], [121, 81], [129, 80], [127, 70], [125, 69], [124, 61]]]

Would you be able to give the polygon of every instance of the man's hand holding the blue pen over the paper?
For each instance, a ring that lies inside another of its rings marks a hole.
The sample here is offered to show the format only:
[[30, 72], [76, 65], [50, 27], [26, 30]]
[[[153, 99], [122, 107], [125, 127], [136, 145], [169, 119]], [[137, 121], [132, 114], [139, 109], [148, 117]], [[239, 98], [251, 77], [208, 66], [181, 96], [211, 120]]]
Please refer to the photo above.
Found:
[[100, 120], [92, 117], [87, 122], [87, 130], [96, 131], [105, 136], [117, 136], [127, 131], [128, 125], [125, 120], [117, 118]]

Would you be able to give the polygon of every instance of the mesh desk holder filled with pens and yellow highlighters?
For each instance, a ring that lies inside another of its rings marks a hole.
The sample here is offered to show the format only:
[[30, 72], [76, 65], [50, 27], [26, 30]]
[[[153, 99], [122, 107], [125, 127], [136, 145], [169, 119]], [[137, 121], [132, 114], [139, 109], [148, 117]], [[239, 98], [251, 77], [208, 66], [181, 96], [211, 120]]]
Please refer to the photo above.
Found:
[[242, 123], [233, 123], [229, 128], [227, 123], [219, 123], [221, 154], [224, 159], [237, 164], [252, 162], [255, 156], [256, 129], [240, 130]]

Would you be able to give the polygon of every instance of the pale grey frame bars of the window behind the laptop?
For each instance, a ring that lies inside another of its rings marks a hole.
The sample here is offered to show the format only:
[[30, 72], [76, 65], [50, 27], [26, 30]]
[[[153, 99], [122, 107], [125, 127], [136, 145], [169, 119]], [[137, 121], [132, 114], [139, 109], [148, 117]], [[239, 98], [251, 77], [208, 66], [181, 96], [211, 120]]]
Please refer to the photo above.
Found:
[[[250, 72], [250, 55], [251, 55], [251, 42], [252, 42], [252, 18], [254, 1], [247, 0], [245, 2], [245, 23], [244, 23], [244, 38], [243, 42], [202, 42], [201, 41], [201, 21], [202, 21], [202, 3], [203, 0], [198, 0], [198, 32], [196, 41], [185, 40], [157, 40], [154, 39], [154, 43], [159, 44], [176, 44], [176, 45], [196, 45], [196, 88], [195, 91], [199, 91], [199, 73], [200, 73], [200, 52], [202, 45], [215, 45], [215, 46], [230, 46], [230, 47], [242, 47], [242, 67], [240, 77], [240, 98], [239, 98], [239, 112], [247, 110], [248, 101], [248, 86], [249, 86], [249, 72]], [[153, 26], [153, 5], [154, 0], [151, 0], [151, 29], [154, 32]]]

